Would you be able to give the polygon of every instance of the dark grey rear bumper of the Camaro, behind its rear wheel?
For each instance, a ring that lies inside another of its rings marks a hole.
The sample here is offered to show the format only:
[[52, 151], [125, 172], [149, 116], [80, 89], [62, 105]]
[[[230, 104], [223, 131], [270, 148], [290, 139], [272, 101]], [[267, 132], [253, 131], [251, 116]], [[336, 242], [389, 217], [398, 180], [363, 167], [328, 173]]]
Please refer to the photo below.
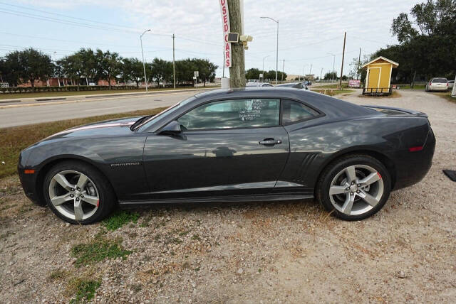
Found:
[[409, 187], [419, 183], [432, 166], [435, 151], [435, 136], [430, 129], [423, 150], [410, 152], [398, 151], [395, 159], [396, 178], [393, 190]]

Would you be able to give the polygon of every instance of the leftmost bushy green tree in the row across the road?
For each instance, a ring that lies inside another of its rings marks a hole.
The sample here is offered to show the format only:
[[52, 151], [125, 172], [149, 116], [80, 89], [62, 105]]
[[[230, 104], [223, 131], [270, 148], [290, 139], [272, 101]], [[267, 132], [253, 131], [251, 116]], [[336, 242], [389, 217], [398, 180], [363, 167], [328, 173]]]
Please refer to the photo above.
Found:
[[53, 73], [51, 57], [33, 48], [16, 50], [6, 55], [4, 68], [6, 77], [14, 86], [29, 81], [32, 91], [35, 90], [36, 80], [46, 81]]

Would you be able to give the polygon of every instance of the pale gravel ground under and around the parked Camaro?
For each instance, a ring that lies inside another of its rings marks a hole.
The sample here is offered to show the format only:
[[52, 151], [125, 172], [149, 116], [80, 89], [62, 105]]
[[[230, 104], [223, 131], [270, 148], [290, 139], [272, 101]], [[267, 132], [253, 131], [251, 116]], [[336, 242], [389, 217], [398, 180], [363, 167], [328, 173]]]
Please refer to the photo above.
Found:
[[122, 238], [127, 259], [77, 268], [71, 247], [102, 224], [65, 224], [4, 178], [0, 303], [68, 302], [84, 277], [101, 283], [95, 303], [455, 303], [456, 183], [442, 169], [456, 170], [456, 104], [410, 90], [357, 94], [341, 98], [418, 109], [437, 136], [430, 173], [377, 215], [343, 222], [314, 201], [138, 208], [138, 222], [104, 234]]

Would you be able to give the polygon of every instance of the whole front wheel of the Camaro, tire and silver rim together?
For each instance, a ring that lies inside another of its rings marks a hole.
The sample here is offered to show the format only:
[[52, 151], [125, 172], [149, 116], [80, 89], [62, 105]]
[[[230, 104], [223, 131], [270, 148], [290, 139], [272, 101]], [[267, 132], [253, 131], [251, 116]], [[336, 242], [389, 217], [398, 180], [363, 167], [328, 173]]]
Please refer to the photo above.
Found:
[[103, 175], [78, 161], [54, 165], [44, 179], [43, 193], [49, 208], [71, 224], [98, 222], [115, 207], [115, 195]]

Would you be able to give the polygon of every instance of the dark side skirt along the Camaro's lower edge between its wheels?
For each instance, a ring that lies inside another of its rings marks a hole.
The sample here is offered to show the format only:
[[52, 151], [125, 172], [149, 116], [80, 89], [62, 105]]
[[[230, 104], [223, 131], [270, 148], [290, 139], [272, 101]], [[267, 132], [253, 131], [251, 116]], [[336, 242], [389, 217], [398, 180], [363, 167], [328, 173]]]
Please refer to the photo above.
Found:
[[270, 202], [274, 200], [309, 200], [312, 198], [314, 198], [314, 195], [310, 193], [286, 193], [271, 195], [234, 195], [214, 197], [173, 198], [165, 200], [120, 201], [119, 205], [149, 205], [180, 202]]

